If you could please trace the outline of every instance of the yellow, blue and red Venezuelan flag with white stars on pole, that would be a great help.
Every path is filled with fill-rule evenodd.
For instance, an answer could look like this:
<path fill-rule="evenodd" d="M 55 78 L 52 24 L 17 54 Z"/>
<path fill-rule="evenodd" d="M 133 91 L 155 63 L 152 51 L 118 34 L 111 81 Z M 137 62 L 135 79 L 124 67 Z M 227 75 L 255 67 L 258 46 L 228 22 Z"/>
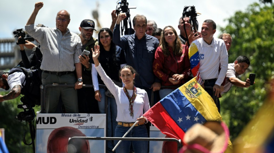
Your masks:
<path fill-rule="evenodd" d="M 187 129 L 195 123 L 222 121 L 213 99 L 196 78 L 157 102 L 143 116 L 162 133 L 181 140 Z"/>

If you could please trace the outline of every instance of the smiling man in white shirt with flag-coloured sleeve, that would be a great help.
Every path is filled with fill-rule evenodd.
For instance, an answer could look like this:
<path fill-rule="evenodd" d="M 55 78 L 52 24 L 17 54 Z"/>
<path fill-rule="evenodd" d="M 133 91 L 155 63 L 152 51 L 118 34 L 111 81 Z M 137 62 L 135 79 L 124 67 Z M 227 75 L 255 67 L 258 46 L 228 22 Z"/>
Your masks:
<path fill-rule="evenodd" d="M 192 74 L 194 77 L 197 76 L 198 83 L 203 88 L 213 87 L 213 90 L 211 88 L 205 90 L 214 99 L 220 112 L 218 95 L 221 93 L 220 86 L 227 72 L 228 53 L 224 40 L 213 38 L 215 32 L 215 22 L 205 20 L 202 24 L 202 38 L 194 40 L 189 47 L 189 60 Z"/>

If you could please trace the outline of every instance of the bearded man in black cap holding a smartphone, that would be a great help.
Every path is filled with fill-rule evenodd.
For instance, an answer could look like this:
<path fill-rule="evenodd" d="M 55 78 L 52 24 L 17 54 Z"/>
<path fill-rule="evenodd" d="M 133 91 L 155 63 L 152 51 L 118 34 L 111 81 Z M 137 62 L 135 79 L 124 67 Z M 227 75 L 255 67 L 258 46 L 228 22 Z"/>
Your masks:
<path fill-rule="evenodd" d="M 82 51 L 87 50 L 91 52 L 91 49 L 94 49 L 95 45 L 98 45 L 97 38 L 93 38 L 93 31 L 95 27 L 95 23 L 93 20 L 83 20 L 80 24 L 80 38 L 82 42 Z M 96 31 L 96 30 L 95 30 Z M 82 63 L 82 78 L 84 84 L 92 85 L 91 78 L 91 54 L 89 56 L 83 55 L 79 56 L 79 61 Z M 78 109 L 79 113 L 99 113 L 98 103 L 95 100 L 94 96 L 95 92 L 93 88 L 81 88 L 77 90 L 78 92 Z"/>

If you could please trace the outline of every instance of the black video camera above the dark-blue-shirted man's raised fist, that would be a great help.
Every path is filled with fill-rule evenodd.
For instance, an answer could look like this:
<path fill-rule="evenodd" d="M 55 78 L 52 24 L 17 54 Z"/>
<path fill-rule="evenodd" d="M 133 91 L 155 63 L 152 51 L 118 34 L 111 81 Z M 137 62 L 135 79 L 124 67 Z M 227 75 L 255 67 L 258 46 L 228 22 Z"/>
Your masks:
<path fill-rule="evenodd" d="M 118 7 L 120 5 L 120 7 Z M 136 9 L 136 6 L 128 6 L 127 0 L 121 0 L 121 2 L 117 3 L 116 6 L 116 14 L 118 15 L 119 13 L 123 12 L 126 14 L 126 18 L 123 20 L 123 26 L 121 25 L 121 35 L 123 35 L 123 31 L 125 30 L 125 35 L 131 33 L 131 21 L 130 21 L 130 9 Z M 130 30 L 127 28 L 127 20 L 129 19 L 130 23 Z"/>

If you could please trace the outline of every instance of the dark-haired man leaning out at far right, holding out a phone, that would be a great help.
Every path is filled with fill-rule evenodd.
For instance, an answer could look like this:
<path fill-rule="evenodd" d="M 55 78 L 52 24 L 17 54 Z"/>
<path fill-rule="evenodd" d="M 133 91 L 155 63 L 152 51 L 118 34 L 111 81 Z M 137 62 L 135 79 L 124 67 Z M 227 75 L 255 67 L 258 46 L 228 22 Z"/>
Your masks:
<path fill-rule="evenodd" d="M 249 65 L 250 61 L 245 56 L 239 56 L 234 61 L 234 63 L 228 64 L 228 70 L 226 72 L 226 83 L 224 85 L 224 91 L 221 94 L 228 92 L 228 90 L 230 90 L 233 85 L 243 88 L 248 88 L 250 86 L 249 78 L 247 78 L 245 82 L 239 79 L 239 75 L 245 73 Z"/>

